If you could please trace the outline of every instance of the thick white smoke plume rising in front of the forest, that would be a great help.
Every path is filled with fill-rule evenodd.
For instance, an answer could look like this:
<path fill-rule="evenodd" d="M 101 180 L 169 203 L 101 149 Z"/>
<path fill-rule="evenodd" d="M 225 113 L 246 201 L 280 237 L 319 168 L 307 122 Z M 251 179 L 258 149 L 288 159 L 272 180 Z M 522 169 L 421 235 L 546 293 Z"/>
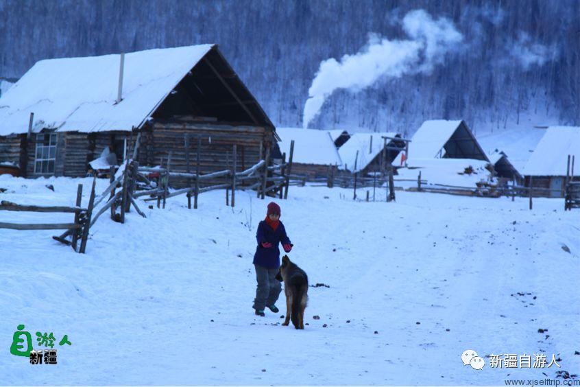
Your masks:
<path fill-rule="evenodd" d="M 445 54 L 457 48 L 463 35 L 446 18 L 434 20 L 424 10 L 413 10 L 402 19 L 408 40 L 389 40 L 371 35 L 357 54 L 323 60 L 304 104 L 302 126 L 319 113 L 326 98 L 337 89 L 361 91 L 379 78 L 428 73 L 442 62 Z"/>

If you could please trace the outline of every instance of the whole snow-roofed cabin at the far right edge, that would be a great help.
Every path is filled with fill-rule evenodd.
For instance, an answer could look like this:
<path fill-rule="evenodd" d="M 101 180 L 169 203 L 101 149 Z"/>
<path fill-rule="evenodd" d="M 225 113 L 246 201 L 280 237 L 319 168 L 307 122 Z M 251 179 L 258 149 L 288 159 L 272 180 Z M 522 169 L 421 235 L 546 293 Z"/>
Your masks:
<path fill-rule="evenodd" d="M 575 156 L 574 174 L 580 174 L 580 127 L 548 127 L 523 169 L 525 186 L 531 181 L 539 188 L 534 196 L 564 196 L 568 154 Z"/>

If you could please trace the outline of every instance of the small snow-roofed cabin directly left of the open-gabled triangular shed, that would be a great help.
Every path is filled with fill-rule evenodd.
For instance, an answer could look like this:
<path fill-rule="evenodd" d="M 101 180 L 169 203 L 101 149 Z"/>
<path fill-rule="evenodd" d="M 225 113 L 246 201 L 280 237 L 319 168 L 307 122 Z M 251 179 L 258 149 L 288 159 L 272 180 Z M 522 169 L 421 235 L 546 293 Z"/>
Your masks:
<path fill-rule="evenodd" d="M 395 132 L 354 133 L 339 148 L 343 169 L 361 175 L 383 172 L 392 163 L 404 142 L 397 141 L 400 134 Z"/>

